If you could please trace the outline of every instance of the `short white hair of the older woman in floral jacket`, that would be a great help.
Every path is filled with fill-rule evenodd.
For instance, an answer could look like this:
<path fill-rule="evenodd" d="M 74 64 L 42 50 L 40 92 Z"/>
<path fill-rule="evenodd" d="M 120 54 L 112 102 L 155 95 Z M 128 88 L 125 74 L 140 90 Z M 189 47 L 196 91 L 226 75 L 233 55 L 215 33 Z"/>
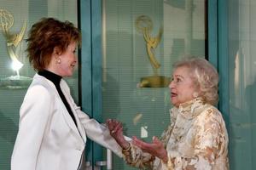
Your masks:
<path fill-rule="evenodd" d="M 177 62 L 174 69 L 185 66 L 189 68 L 190 77 L 199 89 L 199 95 L 208 104 L 218 103 L 218 72 L 207 61 L 200 57 L 187 57 Z"/>

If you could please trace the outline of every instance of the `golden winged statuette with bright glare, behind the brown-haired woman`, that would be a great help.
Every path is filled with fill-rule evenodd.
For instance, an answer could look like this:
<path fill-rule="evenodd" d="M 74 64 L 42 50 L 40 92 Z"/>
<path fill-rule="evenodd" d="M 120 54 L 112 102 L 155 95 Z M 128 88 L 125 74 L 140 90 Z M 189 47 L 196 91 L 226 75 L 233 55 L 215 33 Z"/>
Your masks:
<path fill-rule="evenodd" d="M 11 33 L 9 31 L 13 25 L 13 15 L 5 9 L 0 9 L 0 30 L 3 31 L 3 37 L 6 39 L 7 52 L 12 61 L 12 69 L 15 71 L 15 76 L 0 79 L 0 87 L 27 88 L 28 84 L 32 81 L 32 78 L 20 76 L 20 68 L 22 68 L 23 63 L 19 60 L 20 51 L 17 50 L 26 32 L 26 21 L 24 21 L 19 33 Z"/>

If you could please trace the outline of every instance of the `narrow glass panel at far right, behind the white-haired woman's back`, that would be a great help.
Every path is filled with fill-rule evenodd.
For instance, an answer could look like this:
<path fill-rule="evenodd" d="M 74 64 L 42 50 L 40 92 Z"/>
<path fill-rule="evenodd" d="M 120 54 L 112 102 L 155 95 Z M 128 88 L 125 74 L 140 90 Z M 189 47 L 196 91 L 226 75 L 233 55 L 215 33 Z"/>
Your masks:
<path fill-rule="evenodd" d="M 256 168 L 256 2 L 229 3 L 230 169 Z"/>

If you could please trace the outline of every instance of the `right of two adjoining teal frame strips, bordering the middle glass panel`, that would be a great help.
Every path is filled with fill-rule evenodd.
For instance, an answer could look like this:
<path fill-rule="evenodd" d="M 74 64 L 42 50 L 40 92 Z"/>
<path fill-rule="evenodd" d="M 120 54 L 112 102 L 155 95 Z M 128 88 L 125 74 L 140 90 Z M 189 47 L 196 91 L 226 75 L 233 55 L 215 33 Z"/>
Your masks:
<path fill-rule="evenodd" d="M 102 122 L 102 0 L 91 1 L 92 111 Z M 103 121 L 105 122 L 105 121 Z M 102 161 L 102 147 L 94 143 L 93 162 Z"/>

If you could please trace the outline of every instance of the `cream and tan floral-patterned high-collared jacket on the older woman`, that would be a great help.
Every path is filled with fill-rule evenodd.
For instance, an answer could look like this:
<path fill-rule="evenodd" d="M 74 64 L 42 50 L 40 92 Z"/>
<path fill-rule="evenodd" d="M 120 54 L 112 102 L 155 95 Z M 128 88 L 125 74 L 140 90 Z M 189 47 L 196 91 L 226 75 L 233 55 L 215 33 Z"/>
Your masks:
<path fill-rule="evenodd" d="M 228 133 L 218 109 L 197 98 L 172 108 L 170 114 L 172 123 L 161 136 L 168 163 L 131 143 L 131 150 L 123 151 L 128 164 L 154 170 L 229 169 Z"/>

